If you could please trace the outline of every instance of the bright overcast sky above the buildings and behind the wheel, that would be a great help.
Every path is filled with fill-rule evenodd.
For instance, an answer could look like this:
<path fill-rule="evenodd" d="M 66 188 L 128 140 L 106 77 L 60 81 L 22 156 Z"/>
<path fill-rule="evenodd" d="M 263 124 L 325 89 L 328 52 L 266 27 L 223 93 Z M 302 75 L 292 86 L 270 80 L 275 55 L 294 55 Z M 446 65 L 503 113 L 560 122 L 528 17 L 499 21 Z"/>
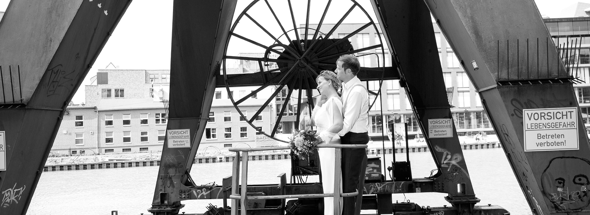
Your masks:
<path fill-rule="evenodd" d="M 8 6 L 9 0 L 0 0 L 0 11 L 6 11 L 6 7 Z M 241 12 L 244 7 L 249 4 L 250 0 L 241 0 L 238 1 L 238 6 L 236 11 Z M 263 2 L 263 1 L 261 1 Z M 273 2 L 283 2 L 283 1 L 270 1 L 271 4 Z M 305 4 L 297 4 L 297 0 L 294 2 L 294 10 L 301 9 L 301 7 L 305 6 Z M 312 1 L 312 5 L 318 4 L 322 5 L 324 1 L 314 0 Z M 370 5 L 367 5 L 368 1 L 359 1 L 360 4 L 365 7 L 366 9 L 371 9 Z M 560 18 L 559 14 L 563 8 L 575 4 L 576 2 L 586 2 L 590 3 L 590 1 L 573 1 L 573 0 L 536 0 L 537 7 L 539 8 L 540 14 L 548 15 L 550 18 Z M 280 5 L 277 3 L 277 8 L 286 5 Z M 348 5 L 341 5 L 341 8 L 337 8 L 337 11 L 346 11 L 348 9 Z M 314 7 L 318 9 L 323 9 L 322 7 Z M 253 8 L 251 10 L 256 10 Z M 371 11 L 368 11 L 371 16 Z M 329 11 L 329 14 L 332 11 Z M 355 14 L 356 13 L 356 14 Z M 268 19 L 264 18 L 264 13 L 250 13 L 252 16 L 257 16 L 260 14 L 260 18 L 255 18 L 261 24 L 265 25 L 265 21 Z M 277 15 L 285 15 L 286 13 L 278 12 Z M 322 14 L 321 11 L 312 11 L 312 16 L 316 15 L 316 19 Z M 363 22 L 362 20 L 366 19 L 362 12 L 355 11 L 353 12 L 353 21 L 345 20 L 345 23 L 359 23 Z M 270 16 L 272 17 L 272 16 Z M 361 18 L 359 18 L 361 17 Z M 288 16 L 284 16 L 283 18 L 289 18 Z M 283 18 L 280 17 L 281 20 Z M 333 20 L 326 20 L 324 23 L 335 23 L 337 19 L 340 18 L 336 12 L 334 14 L 328 15 L 328 19 L 332 18 Z M 298 23 L 302 23 L 301 20 L 304 20 L 304 16 L 296 17 Z M 244 20 L 244 19 L 242 19 Z M 313 20 L 313 17 L 312 17 Z M 249 20 L 248 20 L 249 21 Z M 245 22 L 245 21 L 244 21 Z M 303 22 L 304 23 L 304 22 Z M 317 23 L 310 22 L 310 23 Z M 366 23 L 366 22 L 365 22 Z M 244 23 L 244 26 L 248 26 L 247 23 Z M 247 28 L 253 29 L 253 28 Z M 292 27 L 290 28 L 292 29 Z M 96 71 L 98 69 L 106 68 L 107 65 L 113 63 L 114 65 L 118 66 L 120 69 L 128 69 L 128 70 L 169 70 L 170 69 L 170 44 L 171 44 L 171 30 L 172 30 L 172 0 L 162 1 L 162 0 L 135 0 L 127 9 L 125 15 L 117 25 L 116 30 L 113 32 L 112 37 L 110 37 L 107 44 L 104 46 L 103 51 L 100 53 L 99 57 L 96 59 L 96 62 L 91 68 L 89 74 L 84 79 L 82 87 L 78 89 L 78 92 L 74 96 L 74 103 L 79 104 L 80 102 L 84 102 L 84 85 L 90 84 L 90 78 L 96 75 Z M 253 31 L 242 31 L 244 34 L 255 34 Z M 249 32 L 249 33 L 248 33 Z M 230 52 L 230 50 L 228 50 Z M 240 52 L 240 50 L 234 50 L 233 52 Z"/>

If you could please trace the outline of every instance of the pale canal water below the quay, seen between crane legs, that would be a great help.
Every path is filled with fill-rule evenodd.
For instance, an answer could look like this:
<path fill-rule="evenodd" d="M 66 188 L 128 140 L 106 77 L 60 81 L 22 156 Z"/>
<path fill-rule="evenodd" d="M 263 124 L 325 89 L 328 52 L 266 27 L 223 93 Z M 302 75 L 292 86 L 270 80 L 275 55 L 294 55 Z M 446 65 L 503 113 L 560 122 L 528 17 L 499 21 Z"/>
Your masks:
<path fill-rule="evenodd" d="M 495 204 L 514 215 L 530 215 L 520 187 L 501 148 L 464 150 L 468 171 L 473 181 L 479 204 Z M 405 154 L 396 154 L 405 160 Z M 391 160 L 391 154 L 385 155 Z M 430 152 L 409 153 L 412 177 L 428 177 L 435 168 Z M 389 162 L 389 161 L 388 161 Z M 277 183 L 278 174 L 289 174 L 289 160 L 249 162 L 248 184 Z M 29 215 L 97 214 L 107 215 L 117 210 L 121 215 L 148 213 L 155 189 L 158 166 L 108 168 L 83 171 L 43 172 L 31 201 Z M 221 184 L 231 175 L 231 163 L 194 164 L 191 176 L 198 184 Z M 317 177 L 308 182 L 318 181 Z M 420 206 L 450 206 L 442 193 L 394 194 L 394 201 L 410 200 Z M 221 200 L 186 200 L 181 212 L 204 213 L 209 203 L 222 206 Z M 374 213 L 374 211 L 363 211 Z"/>

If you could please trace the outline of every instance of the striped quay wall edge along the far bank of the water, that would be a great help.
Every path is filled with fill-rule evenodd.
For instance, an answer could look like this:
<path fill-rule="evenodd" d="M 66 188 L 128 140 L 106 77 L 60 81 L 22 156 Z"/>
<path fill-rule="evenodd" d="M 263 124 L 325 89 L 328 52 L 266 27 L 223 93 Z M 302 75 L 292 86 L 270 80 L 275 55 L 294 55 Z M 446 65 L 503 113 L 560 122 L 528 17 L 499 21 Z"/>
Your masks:
<path fill-rule="evenodd" d="M 461 144 L 464 150 L 482 149 L 482 148 L 500 148 L 500 144 L 483 143 L 483 144 Z M 383 148 L 367 148 L 367 154 L 382 154 Z M 428 150 L 427 145 L 415 145 L 409 147 L 409 152 L 416 153 Z M 404 148 L 385 147 L 385 154 L 391 153 L 405 153 Z M 241 157 L 240 157 L 241 158 Z M 289 159 L 289 154 L 254 154 L 248 156 L 248 160 L 284 160 Z M 196 157 L 194 163 L 220 163 L 231 162 L 234 156 L 218 156 L 218 157 Z M 127 168 L 127 167 L 146 167 L 146 166 L 160 166 L 160 160 L 124 160 L 124 161 L 107 161 L 97 163 L 71 163 L 71 164 L 49 164 L 45 165 L 43 171 L 63 171 L 63 170 L 93 170 L 96 168 Z"/>

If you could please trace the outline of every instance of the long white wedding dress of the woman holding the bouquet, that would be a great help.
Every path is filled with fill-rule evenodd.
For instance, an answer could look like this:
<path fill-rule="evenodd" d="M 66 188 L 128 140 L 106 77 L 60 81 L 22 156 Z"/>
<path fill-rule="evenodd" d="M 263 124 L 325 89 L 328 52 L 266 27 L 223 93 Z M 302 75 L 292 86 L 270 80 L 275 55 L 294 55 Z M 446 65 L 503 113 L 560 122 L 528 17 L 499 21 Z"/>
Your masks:
<path fill-rule="evenodd" d="M 328 128 L 330 128 L 330 126 L 332 126 L 332 124 L 334 123 L 334 115 L 336 115 L 337 117 L 341 117 L 340 111 L 334 113 L 334 109 L 342 110 L 342 101 L 340 101 L 336 97 L 330 97 L 322 105 L 322 107 L 319 108 L 319 110 L 313 111 L 313 121 L 316 125 L 317 134 L 322 133 L 322 131 L 326 131 Z M 335 143 L 336 141 L 340 141 L 339 139 L 340 136 L 336 134 L 334 137 L 332 137 L 332 140 L 330 140 L 329 142 Z M 320 144 L 329 143 L 326 143 L 326 141 L 324 141 Z M 320 157 L 320 168 L 322 170 L 322 187 L 324 193 L 334 193 L 334 165 L 335 162 L 340 162 L 339 160 L 335 160 L 335 148 L 318 148 L 317 153 Z M 340 181 L 342 181 L 342 176 L 340 176 Z M 342 193 L 342 184 L 340 184 L 340 192 Z M 340 202 L 342 202 L 342 197 L 340 197 Z M 340 211 L 337 214 L 340 214 L 341 211 L 342 204 L 340 205 Z M 334 199 L 333 197 L 324 197 L 324 215 L 332 214 L 334 214 Z"/>

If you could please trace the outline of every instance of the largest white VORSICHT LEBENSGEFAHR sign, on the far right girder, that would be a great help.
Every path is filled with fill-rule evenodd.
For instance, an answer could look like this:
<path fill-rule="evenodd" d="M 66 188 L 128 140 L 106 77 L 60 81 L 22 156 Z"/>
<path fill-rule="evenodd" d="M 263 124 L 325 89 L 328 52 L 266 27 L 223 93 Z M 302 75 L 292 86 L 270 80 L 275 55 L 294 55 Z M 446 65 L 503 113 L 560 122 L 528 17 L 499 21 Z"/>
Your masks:
<path fill-rule="evenodd" d="M 525 151 L 578 150 L 578 109 L 541 108 L 523 112 Z"/>

